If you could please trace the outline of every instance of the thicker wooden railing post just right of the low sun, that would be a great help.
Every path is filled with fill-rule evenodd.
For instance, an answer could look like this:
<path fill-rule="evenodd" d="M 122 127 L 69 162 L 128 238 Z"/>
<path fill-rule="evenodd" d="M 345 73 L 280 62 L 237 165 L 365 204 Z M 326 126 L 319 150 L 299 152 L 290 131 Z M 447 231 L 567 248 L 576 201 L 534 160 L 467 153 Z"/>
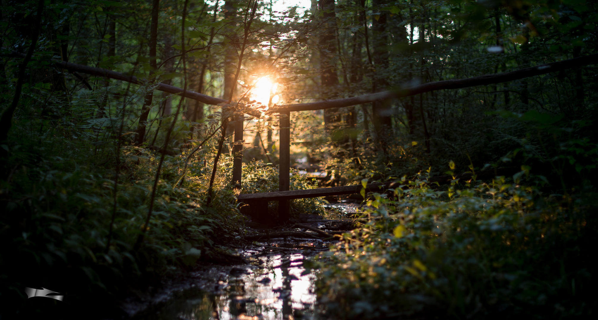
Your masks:
<path fill-rule="evenodd" d="M 279 142 L 279 191 L 288 191 L 291 184 L 289 173 L 291 172 L 291 112 L 279 113 L 280 142 Z M 289 220 L 289 200 L 278 202 L 278 220 L 286 223 Z"/>

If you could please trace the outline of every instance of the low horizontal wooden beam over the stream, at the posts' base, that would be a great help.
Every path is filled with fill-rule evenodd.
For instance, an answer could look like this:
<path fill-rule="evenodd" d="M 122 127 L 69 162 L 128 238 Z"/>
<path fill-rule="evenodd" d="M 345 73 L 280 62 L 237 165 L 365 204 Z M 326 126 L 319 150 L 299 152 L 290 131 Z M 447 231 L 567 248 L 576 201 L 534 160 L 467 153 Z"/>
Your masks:
<path fill-rule="evenodd" d="M 518 168 L 501 168 L 498 170 L 484 170 L 477 173 L 477 179 L 491 179 L 496 176 L 507 176 L 509 174 L 517 173 Z M 464 173 L 457 174 L 454 179 L 469 180 L 473 174 Z M 438 182 L 439 184 L 449 183 L 453 180 L 453 176 L 439 176 L 431 177 L 428 179 L 428 184 Z M 365 186 L 366 192 L 384 192 L 385 190 L 392 189 L 401 186 L 404 181 L 389 181 L 370 183 Z M 320 196 L 339 196 L 339 195 L 352 195 L 361 192 L 363 186 L 361 184 L 357 186 L 342 186 L 342 187 L 327 187 L 327 188 L 316 188 L 306 190 L 290 190 L 290 191 L 273 191 L 273 192 L 260 192 L 260 193 L 243 193 L 237 196 L 239 201 L 243 200 L 260 200 L 260 201 L 279 201 L 279 200 L 291 200 L 291 199 L 303 199 L 303 198 L 318 198 Z"/>

